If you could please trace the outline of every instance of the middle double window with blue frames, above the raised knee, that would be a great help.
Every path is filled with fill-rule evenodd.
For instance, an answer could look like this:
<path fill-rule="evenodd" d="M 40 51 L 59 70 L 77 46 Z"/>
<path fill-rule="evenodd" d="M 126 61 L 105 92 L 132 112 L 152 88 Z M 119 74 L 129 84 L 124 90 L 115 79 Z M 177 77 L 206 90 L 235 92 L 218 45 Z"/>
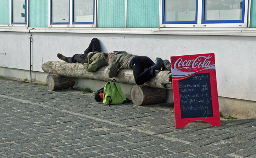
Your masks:
<path fill-rule="evenodd" d="M 95 27 L 95 13 L 95 0 L 50 0 L 50 27 Z"/>

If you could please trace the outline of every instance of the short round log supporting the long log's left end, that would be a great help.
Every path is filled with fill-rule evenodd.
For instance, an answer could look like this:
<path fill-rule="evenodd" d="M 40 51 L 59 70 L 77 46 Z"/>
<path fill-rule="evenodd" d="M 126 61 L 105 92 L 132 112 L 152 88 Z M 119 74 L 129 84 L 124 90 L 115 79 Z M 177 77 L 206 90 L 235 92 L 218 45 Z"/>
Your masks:
<path fill-rule="evenodd" d="M 50 74 L 46 79 L 49 90 L 56 91 L 75 86 L 75 78 L 63 77 L 57 74 Z"/>

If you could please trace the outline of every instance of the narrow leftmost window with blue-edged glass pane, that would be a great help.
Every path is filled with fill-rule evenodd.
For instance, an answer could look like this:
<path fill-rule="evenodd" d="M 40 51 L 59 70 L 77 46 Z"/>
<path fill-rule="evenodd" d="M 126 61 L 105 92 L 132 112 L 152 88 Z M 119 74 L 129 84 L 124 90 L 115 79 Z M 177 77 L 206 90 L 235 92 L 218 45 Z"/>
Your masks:
<path fill-rule="evenodd" d="M 27 24 L 27 0 L 11 0 L 11 24 Z"/>

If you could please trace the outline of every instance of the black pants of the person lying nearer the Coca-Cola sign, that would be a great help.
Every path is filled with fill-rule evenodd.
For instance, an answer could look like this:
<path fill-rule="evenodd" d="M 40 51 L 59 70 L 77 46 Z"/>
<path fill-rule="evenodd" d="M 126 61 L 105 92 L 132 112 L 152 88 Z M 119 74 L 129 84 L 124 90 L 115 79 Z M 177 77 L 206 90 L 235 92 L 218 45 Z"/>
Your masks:
<path fill-rule="evenodd" d="M 136 56 L 132 58 L 131 64 L 136 84 L 142 85 L 152 78 L 149 67 L 153 66 L 155 63 L 150 58 L 147 56 Z"/>

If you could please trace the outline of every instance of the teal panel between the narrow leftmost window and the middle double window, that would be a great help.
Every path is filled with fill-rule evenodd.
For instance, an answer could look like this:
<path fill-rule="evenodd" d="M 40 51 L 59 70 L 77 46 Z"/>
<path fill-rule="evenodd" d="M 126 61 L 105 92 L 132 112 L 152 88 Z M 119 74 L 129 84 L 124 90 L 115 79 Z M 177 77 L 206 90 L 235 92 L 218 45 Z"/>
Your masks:
<path fill-rule="evenodd" d="M 29 1 L 29 27 L 48 27 L 48 0 Z"/>

